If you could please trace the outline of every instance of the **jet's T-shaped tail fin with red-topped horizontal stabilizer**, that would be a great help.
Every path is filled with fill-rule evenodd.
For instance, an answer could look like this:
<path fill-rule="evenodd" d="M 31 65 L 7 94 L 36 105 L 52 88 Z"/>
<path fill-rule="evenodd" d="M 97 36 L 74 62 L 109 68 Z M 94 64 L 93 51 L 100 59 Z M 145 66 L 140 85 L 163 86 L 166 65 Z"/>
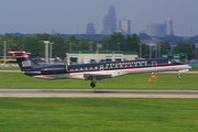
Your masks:
<path fill-rule="evenodd" d="M 37 64 L 36 62 L 34 62 L 34 61 L 26 54 L 26 52 L 13 51 L 13 52 L 8 52 L 8 53 L 12 54 L 12 55 L 15 57 L 15 59 L 16 59 L 16 62 L 18 62 L 18 64 L 19 64 L 19 66 L 20 66 L 20 68 L 21 68 L 22 72 L 28 72 L 28 70 L 30 70 L 30 69 L 34 69 L 34 68 L 41 67 L 40 64 Z"/>

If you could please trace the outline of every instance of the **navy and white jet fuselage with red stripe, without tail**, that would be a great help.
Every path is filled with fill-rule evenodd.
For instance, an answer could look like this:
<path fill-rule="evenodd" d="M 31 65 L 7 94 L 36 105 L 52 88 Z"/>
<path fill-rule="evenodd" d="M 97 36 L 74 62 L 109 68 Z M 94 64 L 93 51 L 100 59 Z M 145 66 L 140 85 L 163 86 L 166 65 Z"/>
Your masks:
<path fill-rule="evenodd" d="M 79 65 L 48 65 L 24 72 L 24 74 L 43 79 L 85 79 L 85 74 L 119 77 L 128 74 L 172 72 L 188 68 L 190 68 L 188 65 L 173 62 L 169 58 L 156 58 Z"/>

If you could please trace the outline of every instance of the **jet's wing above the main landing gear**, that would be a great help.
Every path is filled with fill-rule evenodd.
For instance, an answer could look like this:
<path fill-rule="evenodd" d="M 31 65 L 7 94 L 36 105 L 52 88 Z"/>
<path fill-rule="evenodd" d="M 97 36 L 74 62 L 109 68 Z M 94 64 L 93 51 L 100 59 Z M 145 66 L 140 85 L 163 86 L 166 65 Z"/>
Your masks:
<path fill-rule="evenodd" d="M 102 75 L 102 74 L 84 74 L 85 80 L 100 80 L 106 78 L 111 78 L 112 75 Z"/>

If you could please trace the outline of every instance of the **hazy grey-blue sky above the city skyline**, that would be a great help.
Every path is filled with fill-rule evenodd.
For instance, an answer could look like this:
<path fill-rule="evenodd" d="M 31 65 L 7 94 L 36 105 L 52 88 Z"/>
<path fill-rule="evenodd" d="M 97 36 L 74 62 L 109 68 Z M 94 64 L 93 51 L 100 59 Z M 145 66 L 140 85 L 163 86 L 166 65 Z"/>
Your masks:
<path fill-rule="evenodd" d="M 198 34 L 198 0 L 0 0 L 0 34 L 84 34 L 88 23 L 101 33 L 102 20 L 113 4 L 119 20 L 131 20 L 131 32 L 146 24 L 173 20 L 175 35 Z"/>

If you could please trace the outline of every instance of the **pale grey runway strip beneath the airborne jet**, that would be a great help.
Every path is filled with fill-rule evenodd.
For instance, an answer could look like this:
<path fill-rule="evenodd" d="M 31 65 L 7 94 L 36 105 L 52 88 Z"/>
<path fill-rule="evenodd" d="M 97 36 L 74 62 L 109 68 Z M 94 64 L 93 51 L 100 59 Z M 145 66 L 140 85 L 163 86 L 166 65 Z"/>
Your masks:
<path fill-rule="evenodd" d="M 14 98 L 198 98 L 197 90 L 0 89 Z"/>

